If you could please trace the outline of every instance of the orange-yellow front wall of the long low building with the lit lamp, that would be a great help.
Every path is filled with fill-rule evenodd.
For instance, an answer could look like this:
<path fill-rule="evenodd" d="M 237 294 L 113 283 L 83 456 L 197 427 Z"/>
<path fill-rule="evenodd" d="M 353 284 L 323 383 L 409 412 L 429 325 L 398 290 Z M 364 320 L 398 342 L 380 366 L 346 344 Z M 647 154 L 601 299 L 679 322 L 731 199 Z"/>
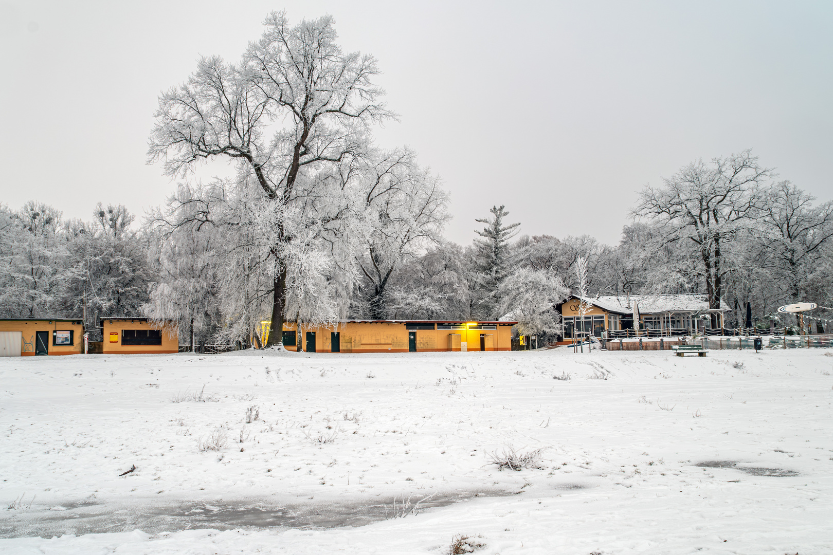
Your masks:
<path fill-rule="evenodd" d="M 297 331 L 296 325 L 285 324 L 284 330 Z M 342 353 L 407 353 L 408 333 L 416 333 L 416 352 L 459 351 L 466 341 L 470 351 L 480 350 L 480 334 L 486 335 L 486 350 L 511 350 L 511 325 L 498 325 L 497 330 L 407 330 L 405 324 L 388 322 L 342 322 L 335 328 L 306 328 L 296 335 L 307 349 L 307 331 L 316 332 L 316 352 L 332 352 L 332 332 L 340 334 Z M 451 336 L 451 337 L 450 337 Z M 455 339 L 456 336 L 456 339 Z M 105 336 L 106 338 L 106 336 Z M 297 350 L 296 346 L 287 346 Z"/>

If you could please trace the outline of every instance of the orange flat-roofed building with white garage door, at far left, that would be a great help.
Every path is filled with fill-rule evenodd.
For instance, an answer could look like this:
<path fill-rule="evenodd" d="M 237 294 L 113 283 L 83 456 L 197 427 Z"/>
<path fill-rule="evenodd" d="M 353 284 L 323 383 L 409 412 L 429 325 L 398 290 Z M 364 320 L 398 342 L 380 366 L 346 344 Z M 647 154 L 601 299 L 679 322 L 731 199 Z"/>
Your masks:
<path fill-rule="evenodd" d="M 80 354 L 84 352 L 81 320 L 0 320 L 0 356 Z"/>

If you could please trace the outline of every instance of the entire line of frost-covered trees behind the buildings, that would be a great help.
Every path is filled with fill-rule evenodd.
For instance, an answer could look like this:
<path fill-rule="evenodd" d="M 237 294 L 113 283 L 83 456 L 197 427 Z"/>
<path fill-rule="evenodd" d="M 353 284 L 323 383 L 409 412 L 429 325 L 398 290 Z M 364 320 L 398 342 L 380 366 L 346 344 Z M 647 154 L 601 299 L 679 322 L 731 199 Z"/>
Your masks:
<path fill-rule="evenodd" d="M 135 222 L 99 204 L 92 221 L 51 206 L 0 206 L 0 315 L 174 320 L 181 340 L 281 341 L 284 321 L 497 320 L 557 330 L 582 296 L 704 293 L 741 323 L 797 300 L 831 305 L 833 203 L 777 181 L 751 151 L 695 161 L 646 186 L 619 245 L 519 235 L 494 206 L 471 245 L 442 236 L 441 180 L 374 126 L 397 115 L 373 57 L 343 52 L 332 17 L 272 13 L 236 62 L 203 57 L 155 113 L 149 163 L 181 180 Z M 235 176 L 198 179 L 226 159 Z M 135 224 L 135 225 L 134 225 Z M 716 327 L 716 325 L 713 325 Z"/>

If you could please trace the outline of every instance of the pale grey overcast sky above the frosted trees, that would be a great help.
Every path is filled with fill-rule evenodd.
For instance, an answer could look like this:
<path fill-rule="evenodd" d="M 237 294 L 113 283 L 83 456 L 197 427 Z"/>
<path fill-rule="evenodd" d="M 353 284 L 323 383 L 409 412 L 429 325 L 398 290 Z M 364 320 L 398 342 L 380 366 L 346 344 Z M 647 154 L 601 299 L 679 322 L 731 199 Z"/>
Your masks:
<path fill-rule="evenodd" d="M 332 14 L 345 51 L 378 58 L 401 121 L 377 142 L 443 178 L 451 240 L 505 204 L 522 233 L 615 244 L 642 186 L 750 147 L 833 197 L 833 2 L 0 0 L 0 202 L 162 205 L 157 95 L 283 9 Z"/>

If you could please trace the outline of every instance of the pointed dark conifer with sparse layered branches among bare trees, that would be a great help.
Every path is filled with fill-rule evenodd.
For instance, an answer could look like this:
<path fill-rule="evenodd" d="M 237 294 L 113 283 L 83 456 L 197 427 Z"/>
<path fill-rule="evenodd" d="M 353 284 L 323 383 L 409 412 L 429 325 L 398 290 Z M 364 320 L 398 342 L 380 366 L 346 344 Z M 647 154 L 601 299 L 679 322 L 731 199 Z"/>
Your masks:
<path fill-rule="evenodd" d="M 517 235 L 520 223 L 504 225 L 503 219 L 509 216 L 506 206 L 492 206 L 491 217 L 476 221 L 486 224 L 483 230 L 475 230 L 481 239 L 474 241 L 476 248 L 476 268 L 479 273 L 481 295 L 476 305 L 476 315 L 486 320 L 497 320 L 500 315 L 499 288 L 511 266 L 522 257 L 512 249 L 510 240 Z"/>

